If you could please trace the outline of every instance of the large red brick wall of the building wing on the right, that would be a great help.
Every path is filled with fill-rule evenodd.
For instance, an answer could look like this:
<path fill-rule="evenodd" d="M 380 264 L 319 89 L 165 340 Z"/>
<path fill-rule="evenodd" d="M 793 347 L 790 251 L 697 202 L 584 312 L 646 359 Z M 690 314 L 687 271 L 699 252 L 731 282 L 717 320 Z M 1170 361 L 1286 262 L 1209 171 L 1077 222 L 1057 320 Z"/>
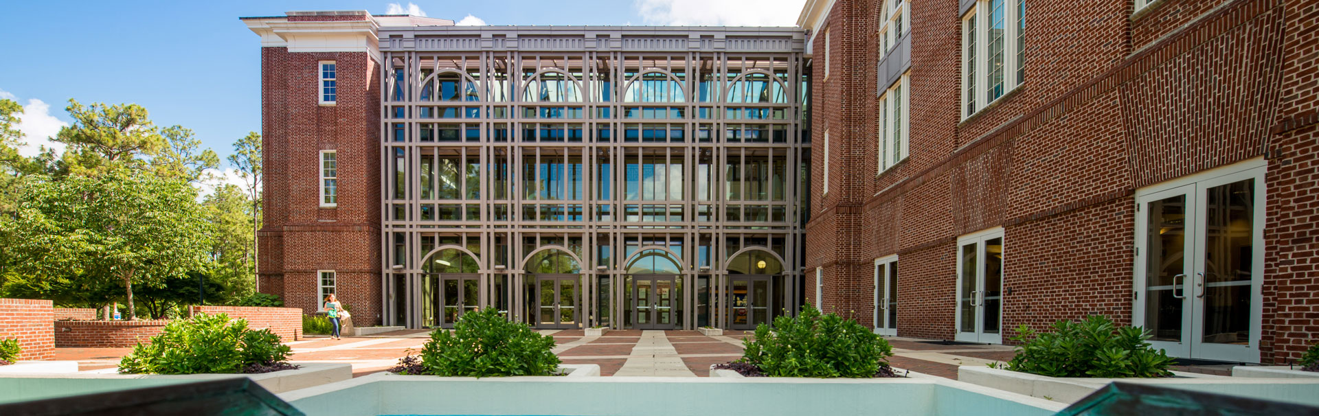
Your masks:
<path fill-rule="evenodd" d="M 872 324 L 873 259 L 898 254 L 898 334 L 952 338 L 956 238 L 1001 226 L 1005 329 L 1093 313 L 1130 324 L 1136 190 L 1264 157 L 1261 361 L 1319 340 L 1319 216 L 1303 208 L 1319 199 L 1314 1 L 1163 0 L 1134 16 L 1129 1 L 1029 1 L 1025 83 L 966 120 L 958 4 L 909 12 L 910 153 L 884 172 L 880 1 L 836 1 L 815 29 L 809 300 L 823 266 L 826 309 Z"/>

